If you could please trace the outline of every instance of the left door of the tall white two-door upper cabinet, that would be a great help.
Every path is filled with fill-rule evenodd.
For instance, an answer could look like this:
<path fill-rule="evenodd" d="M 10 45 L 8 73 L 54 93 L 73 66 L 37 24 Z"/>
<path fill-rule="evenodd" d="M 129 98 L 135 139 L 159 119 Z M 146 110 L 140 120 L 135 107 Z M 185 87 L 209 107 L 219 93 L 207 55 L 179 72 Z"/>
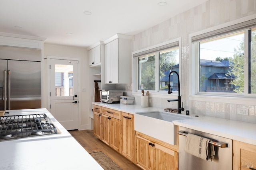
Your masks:
<path fill-rule="evenodd" d="M 112 81 L 112 43 L 105 45 L 105 83 Z"/>

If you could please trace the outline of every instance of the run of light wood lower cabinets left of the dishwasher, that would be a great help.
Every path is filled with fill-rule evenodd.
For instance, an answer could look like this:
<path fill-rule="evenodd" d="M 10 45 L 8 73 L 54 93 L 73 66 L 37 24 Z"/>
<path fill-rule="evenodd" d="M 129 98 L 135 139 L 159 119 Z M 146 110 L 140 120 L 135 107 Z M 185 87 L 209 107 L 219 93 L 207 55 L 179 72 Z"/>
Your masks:
<path fill-rule="evenodd" d="M 134 115 L 94 108 L 94 135 L 144 170 L 178 170 L 178 146 L 134 131 Z"/>

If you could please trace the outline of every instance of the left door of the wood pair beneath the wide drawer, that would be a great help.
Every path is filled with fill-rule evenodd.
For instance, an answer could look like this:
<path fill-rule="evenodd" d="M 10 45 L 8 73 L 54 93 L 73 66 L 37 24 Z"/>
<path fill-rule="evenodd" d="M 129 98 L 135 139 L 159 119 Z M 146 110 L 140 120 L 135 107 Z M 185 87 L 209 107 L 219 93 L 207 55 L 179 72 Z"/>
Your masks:
<path fill-rule="evenodd" d="M 109 125 L 110 125 L 110 119 L 107 115 L 102 114 L 101 116 L 101 131 L 102 136 L 101 139 L 104 143 L 109 145 Z"/>

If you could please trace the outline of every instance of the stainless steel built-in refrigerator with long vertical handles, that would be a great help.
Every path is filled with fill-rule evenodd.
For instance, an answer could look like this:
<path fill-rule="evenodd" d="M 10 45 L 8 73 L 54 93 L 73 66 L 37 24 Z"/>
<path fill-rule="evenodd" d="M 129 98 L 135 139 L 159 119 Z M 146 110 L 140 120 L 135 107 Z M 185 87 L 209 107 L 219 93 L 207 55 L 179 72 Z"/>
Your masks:
<path fill-rule="evenodd" d="M 27 60 L 40 53 L 0 47 L 0 110 L 41 108 L 41 62 Z"/>

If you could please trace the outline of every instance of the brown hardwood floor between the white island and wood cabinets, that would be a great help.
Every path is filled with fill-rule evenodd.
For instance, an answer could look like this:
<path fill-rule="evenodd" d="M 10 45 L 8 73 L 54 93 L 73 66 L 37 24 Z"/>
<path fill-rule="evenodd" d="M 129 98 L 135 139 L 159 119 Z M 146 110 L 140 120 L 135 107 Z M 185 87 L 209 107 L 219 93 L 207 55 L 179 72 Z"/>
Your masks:
<path fill-rule="evenodd" d="M 102 151 L 123 170 L 141 170 L 130 160 L 126 159 L 120 153 L 111 149 L 97 137 L 94 137 L 93 130 L 69 131 L 69 133 L 76 139 L 76 141 L 78 141 L 78 143 L 80 143 L 80 145 L 82 145 L 82 147 L 88 153 Z"/>

